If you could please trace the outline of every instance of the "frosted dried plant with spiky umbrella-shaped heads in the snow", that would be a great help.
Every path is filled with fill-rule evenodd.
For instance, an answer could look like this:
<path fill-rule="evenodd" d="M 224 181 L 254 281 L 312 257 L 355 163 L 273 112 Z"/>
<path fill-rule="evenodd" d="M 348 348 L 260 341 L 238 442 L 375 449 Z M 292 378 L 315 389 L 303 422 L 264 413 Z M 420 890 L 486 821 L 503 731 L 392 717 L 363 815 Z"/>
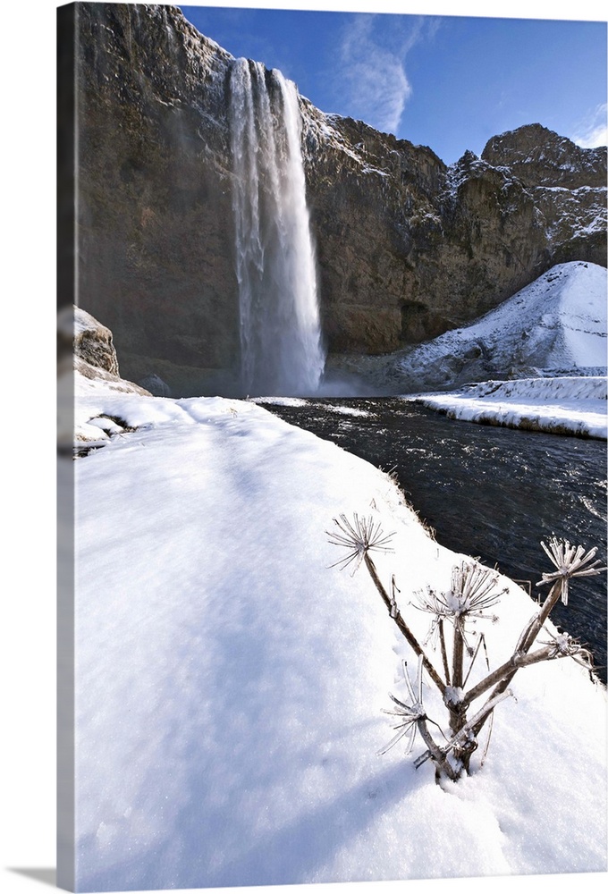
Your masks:
<path fill-rule="evenodd" d="M 426 745 L 426 751 L 416 759 L 415 766 L 421 766 L 427 760 L 431 760 L 435 764 L 437 780 L 443 778 L 458 780 L 464 773 L 469 772 L 470 758 L 477 749 L 479 733 L 486 721 L 491 721 L 495 706 L 512 695 L 511 680 L 520 668 L 538 662 L 572 658 L 592 671 L 592 655 L 567 633 L 555 636 L 547 631 L 549 638 L 545 642 L 539 642 L 539 647 L 534 651 L 532 646 L 544 628 L 553 606 L 560 599 L 564 604 L 568 603 L 570 579 L 596 575 L 606 570 L 600 565 L 599 560 L 595 560 L 596 549 L 585 552 L 582 546 L 572 546 L 568 540 L 559 540 L 554 535 L 548 544 L 541 542 L 555 567 L 554 571 L 543 572 L 542 580 L 539 582 L 539 585 L 551 585 L 545 602 L 521 631 L 508 661 L 494 671 L 490 671 L 488 662 L 486 676 L 467 689 L 469 675 L 477 661 L 480 647 L 484 645 L 486 648 L 483 634 L 478 635 L 475 648 L 470 645 L 468 637 L 471 636 L 471 631 L 468 625 L 482 619 L 497 620 L 494 614 L 488 612 L 500 601 L 501 596 L 508 592 L 507 587 L 500 588 L 498 572 L 487 569 L 474 560 L 461 561 L 452 568 L 451 586 L 448 590 L 438 592 L 432 587 L 427 587 L 424 593 L 416 594 L 415 607 L 431 615 L 428 635 L 420 644 L 397 606 L 396 593 L 399 590 L 394 576 L 389 591 L 380 580 L 376 565 L 370 556 L 370 552 L 374 551 L 393 552 L 388 545 L 393 534 L 384 535 L 382 527 L 372 517 L 360 519 L 355 515 L 354 521 L 350 523 L 342 515 L 340 519 L 334 519 L 334 523 L 339 533 L 326 532 L 330 543 L 345 547 L 347 552 L 331 567 L 339 565 L 343 569 L 356 561 L 354 570 L 357 570 L 362 562 L 365 564 L 391 618 L 418 656 L 418 675 L 415 684 L 410 680 L 407 663 L 404 662 L 403 666 L 408 701 L 389 694 L 394 707 L 385 713 L 397 718 L 397 722 L 393 725 L 393 729 L 397 732 L 379 754 L 386 754 L 407 736 L 406 754 L 409 755 L 419 733 Z M 452 627 L 450 648 L 446 637 L 446 624 Z M 433 652 L 439 650 L 443 675 L 436 670 L 430 655 L 426 654 L 426 647 L 429 644 Z M 469 659 L 469 669 L 465 673 L 466 659 Z M 439 723 L 432 721 L 426 715 L 422 700 L 423 672 L 430 677 L 443 698 L 449 719 L 447 734 L 443 732 Z M 485 697 L 485 701 L 474 707 L 474 703 L 482 696 Z M 470 716 L 469 709 L 473 709 Z M 431 734 L 429 723 L 440 731 L 442 744 L 438 744 Z"/>

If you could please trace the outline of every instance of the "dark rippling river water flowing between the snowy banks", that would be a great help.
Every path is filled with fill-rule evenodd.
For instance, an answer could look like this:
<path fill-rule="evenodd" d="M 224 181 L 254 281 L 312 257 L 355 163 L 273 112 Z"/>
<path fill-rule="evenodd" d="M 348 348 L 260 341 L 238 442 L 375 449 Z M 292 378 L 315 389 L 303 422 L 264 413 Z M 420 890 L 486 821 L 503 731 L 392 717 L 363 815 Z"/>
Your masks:
<path fill-rule="evenodd" d="M 510 578 L 553 570 L 540 541 L 553 533 L 606 558 L 606 443 L 448 419 L 397 398 L 265 404 L 292 425 L 394 469 L 438 543 L 478 556 Z M 335 407 L 365 410 L 344 415 Z M 548 587 L 540 592 L 545 595 Z M 552 619 L 590 646 L 606 682 L 606 578 L 577 578 Z"/>

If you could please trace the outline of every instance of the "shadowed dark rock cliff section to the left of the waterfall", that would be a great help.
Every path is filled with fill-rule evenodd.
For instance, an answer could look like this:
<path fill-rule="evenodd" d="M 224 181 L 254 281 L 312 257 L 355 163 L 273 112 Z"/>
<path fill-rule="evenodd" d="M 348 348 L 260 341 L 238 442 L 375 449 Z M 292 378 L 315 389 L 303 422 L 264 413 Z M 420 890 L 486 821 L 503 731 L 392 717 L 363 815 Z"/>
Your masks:
<path fill-rule="evenodd" d="M 76 9 L 80 305 L 113 330 L 129 377 L 142 357 L 230 368 L 230 56 L 172 7 Z"/>

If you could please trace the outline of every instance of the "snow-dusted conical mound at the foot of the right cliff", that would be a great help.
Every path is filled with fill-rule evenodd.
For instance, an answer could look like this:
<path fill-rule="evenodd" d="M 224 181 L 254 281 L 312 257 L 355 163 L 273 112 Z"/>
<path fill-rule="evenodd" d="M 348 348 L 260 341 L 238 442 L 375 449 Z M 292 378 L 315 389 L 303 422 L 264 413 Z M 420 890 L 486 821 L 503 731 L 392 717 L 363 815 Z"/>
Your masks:
<path fill-rule="evenodd" d="M 606 367 L 606 270 L 554 266 L 476 323 L 393 358 L 402 391 Z"/>

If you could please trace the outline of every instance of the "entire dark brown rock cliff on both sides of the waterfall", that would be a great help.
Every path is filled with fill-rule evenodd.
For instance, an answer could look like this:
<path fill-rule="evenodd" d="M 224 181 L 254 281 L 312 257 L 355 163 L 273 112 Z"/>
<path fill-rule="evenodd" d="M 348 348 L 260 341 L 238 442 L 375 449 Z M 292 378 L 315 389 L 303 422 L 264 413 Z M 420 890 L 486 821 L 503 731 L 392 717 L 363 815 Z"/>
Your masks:
<path fill-rule="evenodd" d="M 80 306 L 113 330 L 128 377 L 200 392 L 221 370 L 225 383 L 239 355 L 232 56 L 174 7 L 75 6 Z M 395 350 L 555 263 L 605 266 L 605 149 L 530 125 L 447 167 L 300 105 L 329 350 Z"/>

